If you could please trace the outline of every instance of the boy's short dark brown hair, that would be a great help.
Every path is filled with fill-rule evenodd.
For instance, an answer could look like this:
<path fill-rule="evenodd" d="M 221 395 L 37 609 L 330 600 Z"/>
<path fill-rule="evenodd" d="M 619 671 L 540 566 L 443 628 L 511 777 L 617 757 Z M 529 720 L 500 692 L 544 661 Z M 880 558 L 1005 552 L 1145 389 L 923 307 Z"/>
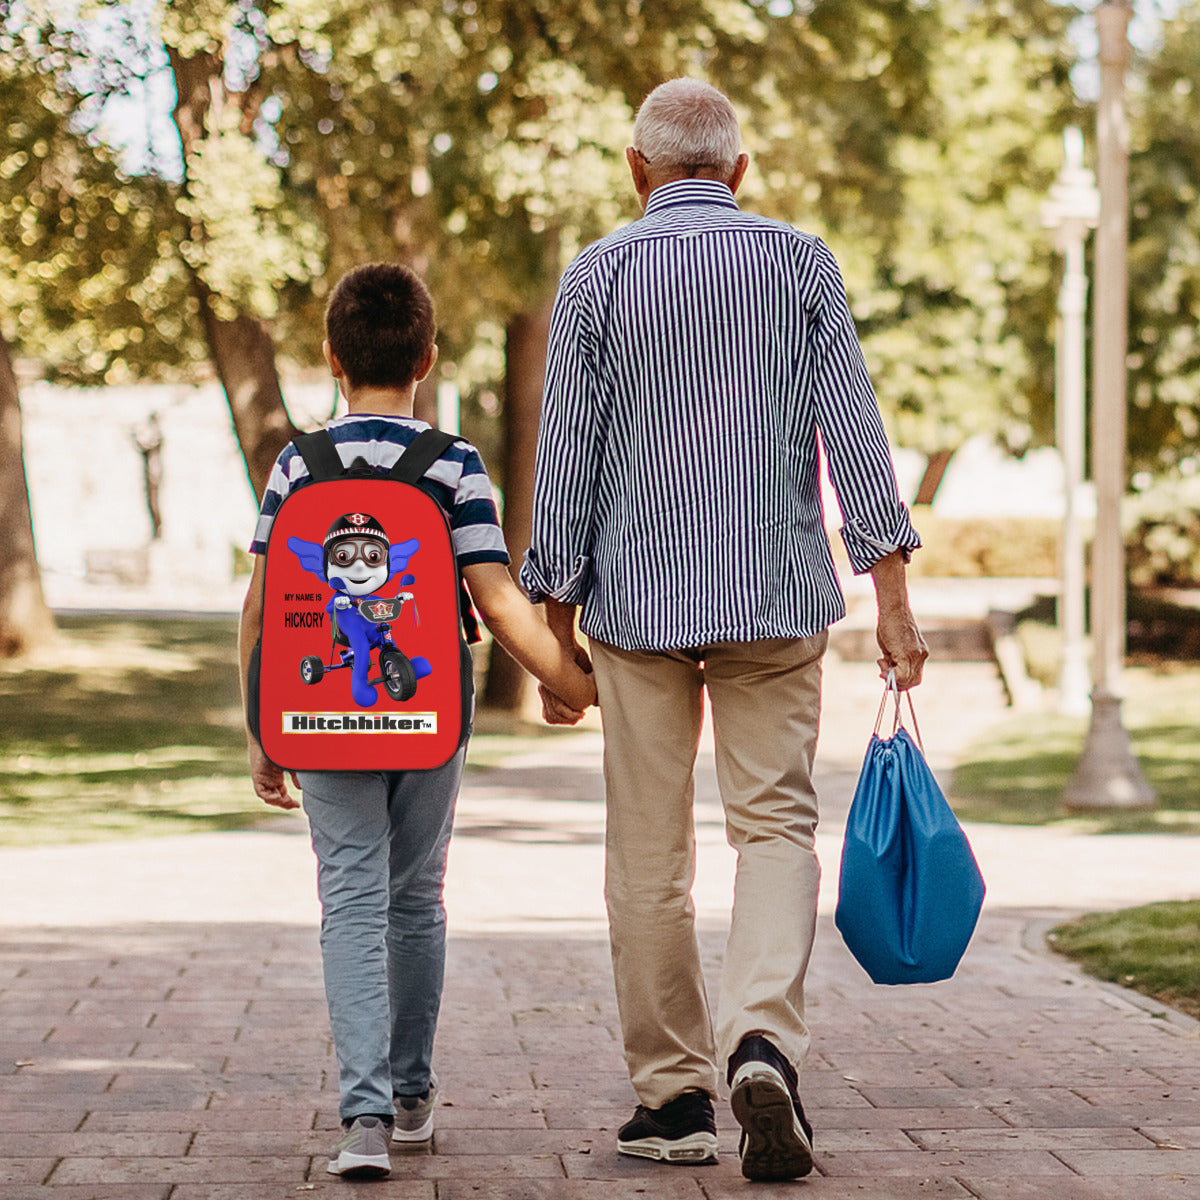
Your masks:
<path fill-rule="evenodd" d="M 433 298 L 400 263 L 347 272 L 325 308 L 325 337 L 354 388 L 404 388 L 433 344 Z"/>

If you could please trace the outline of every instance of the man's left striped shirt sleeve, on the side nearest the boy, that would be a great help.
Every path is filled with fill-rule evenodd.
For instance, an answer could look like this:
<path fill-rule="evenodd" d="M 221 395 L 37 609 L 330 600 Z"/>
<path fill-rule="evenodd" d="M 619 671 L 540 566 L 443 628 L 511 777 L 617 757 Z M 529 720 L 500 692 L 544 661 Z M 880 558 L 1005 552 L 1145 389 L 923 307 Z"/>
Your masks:
<path fill-rule="evenodd" d="M 580 605 L 590 582 L 596 479 L 595 359 L 587 322 L 559 286 L 550 326 L 534 474 L 533 529 L 521 584 L 534 604 Z"/>

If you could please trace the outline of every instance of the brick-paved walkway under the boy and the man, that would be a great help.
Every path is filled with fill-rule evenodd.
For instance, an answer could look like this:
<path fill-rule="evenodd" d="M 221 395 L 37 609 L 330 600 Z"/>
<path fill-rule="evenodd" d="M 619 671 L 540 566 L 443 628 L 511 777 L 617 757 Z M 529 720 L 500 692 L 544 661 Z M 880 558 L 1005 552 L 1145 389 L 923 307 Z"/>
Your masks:
<path fill-rule="evenodd" d="M 820 755 L 827 889 L 803 1092 L 817 1172 L 751 1186 L 721 1163 L 622 1159 L 634 1104 L 601 887 L 599 736 L 470 773 L 430 1152 L 392 1177 L 325 1175 L 336 1068 L 300 818 L 264 832 L 0 851 L 0 1200 L 1195 1200 L 1200 1026 L 1050 956 L 1072 912 L 1200 890 L 1194 839 L 971 827 L 989 900 L 958 976 L 872 986 L 833 928 L 840 824 L 872 668 L 830 662 Z M 918 714 L 935 767 L 1000 714 L 991 668 L 935 665 Z M 710 763 L 697 911 L 719 986 L 732 860 Z"/>

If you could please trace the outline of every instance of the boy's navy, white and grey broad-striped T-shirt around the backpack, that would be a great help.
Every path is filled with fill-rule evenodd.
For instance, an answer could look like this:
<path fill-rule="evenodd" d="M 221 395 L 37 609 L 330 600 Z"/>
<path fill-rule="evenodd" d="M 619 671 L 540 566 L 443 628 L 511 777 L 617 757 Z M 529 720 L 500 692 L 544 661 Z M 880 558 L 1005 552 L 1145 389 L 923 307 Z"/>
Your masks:
<path fill-rule="evenodd" d="M 361 457 L 368 467 L 388 472 L 428 425 L 414 418 L 352 413 L 330 421 L 325 428 L 344 466 L 349 467 Z M 304 458 L 289 443 L 275 460 L 266 481 L 254 540 L 250 546 L 252 554 L 265 553 L 266 539 L 283 498 L 307 478 L 308 468 Z M 492 485 L 479 451 L 469 443 L 456 442 L 426 472 L 425 480 L 449 517 L 458 565 L 508 563 L 509 553 L 496 516 Z"/>

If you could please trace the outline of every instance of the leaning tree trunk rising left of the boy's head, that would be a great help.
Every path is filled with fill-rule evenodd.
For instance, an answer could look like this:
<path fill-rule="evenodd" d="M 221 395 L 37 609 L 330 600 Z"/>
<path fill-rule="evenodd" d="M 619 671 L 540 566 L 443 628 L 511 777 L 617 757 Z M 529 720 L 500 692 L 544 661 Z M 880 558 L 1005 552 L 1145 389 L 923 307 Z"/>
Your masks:
<path fill-rule="evenodd" d="M 186 187 L 187 160 L 206 136 L 209 114 L 230 97 L 222 80 L 222 55 L 202 52 L 185 58 L 173 47 L 168 54 L 178 97 L 172 115 L 184 151 Z M 203 238 L 203 229 L 196 234 Z M 204 281 L 197 277 L 193 283 L 209 356 L 229 403 L 251 486 L 262 499 L 276 455 L 300 432 L 283 403 L 275 343 L 265 323 L 252 313 L 222 320 L 212 311 L 212 294 Z"/>

